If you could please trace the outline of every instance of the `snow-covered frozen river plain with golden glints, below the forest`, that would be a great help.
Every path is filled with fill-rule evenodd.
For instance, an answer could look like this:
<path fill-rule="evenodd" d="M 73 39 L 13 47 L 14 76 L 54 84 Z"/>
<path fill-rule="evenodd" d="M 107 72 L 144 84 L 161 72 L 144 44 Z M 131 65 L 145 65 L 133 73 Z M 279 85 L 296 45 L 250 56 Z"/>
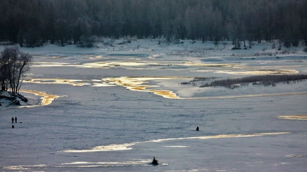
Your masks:
<path fill-rule="evenodd" d="M 20 90 L 30 105 L 0 100 L 0 171 L 306 172 L 307 81 L 236 89 L 180 84 L 306 74 L 302 47 L 120 42 L 20 48 L 34 57 Z"/>

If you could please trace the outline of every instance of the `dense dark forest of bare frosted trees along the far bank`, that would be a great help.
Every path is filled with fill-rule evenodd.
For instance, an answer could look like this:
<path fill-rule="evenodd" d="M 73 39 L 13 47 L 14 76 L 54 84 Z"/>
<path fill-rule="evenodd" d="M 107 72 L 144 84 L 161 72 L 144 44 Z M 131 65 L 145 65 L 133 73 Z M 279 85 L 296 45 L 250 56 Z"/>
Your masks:
<path fill-rule="evenodd" d="M 0 16 L 0 41 L 27 47 L 93 36 L 307 45 L 307 0 L 1 0 Z"/>

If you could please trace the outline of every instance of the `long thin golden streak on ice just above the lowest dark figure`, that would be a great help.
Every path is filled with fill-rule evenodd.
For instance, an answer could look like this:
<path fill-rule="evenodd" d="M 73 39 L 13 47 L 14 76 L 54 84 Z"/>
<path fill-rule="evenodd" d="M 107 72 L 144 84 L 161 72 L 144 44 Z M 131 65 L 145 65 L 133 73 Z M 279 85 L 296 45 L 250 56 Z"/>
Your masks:
<path fill-rule="evenodd" d="M 85 150 L 64 150 L 61 152 L 97 152 L 97 151 L 120 151 L 120 150 L 131 150 L 131 146 L 141 143 L 150 142 L 162 142 L 169 140 L 186 140 L 186 139 L 216 139 L 216 138 L 234 138 L 234 137 L 254 137 L 254 136 L 265 136 L 265 135 L 279 135 L 279 134 L 290 134 L 291 132 L 273 132 L 273 133 L 253 133 L 253 134 L 220 134 L 213 136 L 199 136 L 199 137 L 183 137 L 183 138 L 166 138 L 166 139 L 156 139 L 143 142 L 133 142 L 124 144 L 113 144 L 108 146 L 96 146 L 91 149 Z"/>

